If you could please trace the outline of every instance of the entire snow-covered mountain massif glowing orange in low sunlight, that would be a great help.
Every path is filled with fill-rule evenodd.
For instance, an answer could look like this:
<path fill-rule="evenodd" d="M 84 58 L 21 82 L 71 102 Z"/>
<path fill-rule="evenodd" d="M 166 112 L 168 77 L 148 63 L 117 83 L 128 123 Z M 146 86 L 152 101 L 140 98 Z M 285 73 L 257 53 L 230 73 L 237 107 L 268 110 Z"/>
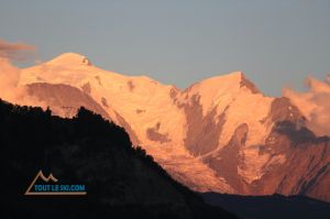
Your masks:
<path fill-rule="evenodd" d="M 330 200 L 329 139 L 308 130 L 289 99 L 264 96 L 241 72 L 179 90 L 67 53 L 22 69 L 20 84 L 59 116 L 85 106 L 113 120 L 195 190 Z"/>

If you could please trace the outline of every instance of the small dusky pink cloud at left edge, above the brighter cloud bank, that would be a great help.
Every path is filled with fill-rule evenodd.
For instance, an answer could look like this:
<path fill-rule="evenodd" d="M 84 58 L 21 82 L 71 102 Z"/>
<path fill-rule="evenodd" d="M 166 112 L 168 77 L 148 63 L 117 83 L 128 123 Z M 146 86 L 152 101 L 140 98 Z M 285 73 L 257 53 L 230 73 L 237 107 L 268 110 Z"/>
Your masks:
<path fill-rule="evenodd" d="M 0 57 L 9 61 L 22 62 L 30 58 L 35 52 L 33 45 L 25 43 L 9 43 L 0 39 Z"/>

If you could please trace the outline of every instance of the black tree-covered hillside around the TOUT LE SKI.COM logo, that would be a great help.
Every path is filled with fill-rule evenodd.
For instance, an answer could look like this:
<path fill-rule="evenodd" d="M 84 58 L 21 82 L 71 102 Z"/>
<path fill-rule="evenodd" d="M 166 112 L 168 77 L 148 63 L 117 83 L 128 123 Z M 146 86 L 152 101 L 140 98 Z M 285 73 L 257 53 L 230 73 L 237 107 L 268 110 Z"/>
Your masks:
<path fill-rule="evenodd" d="M 0 100 L 1 218 L 235 218 L 173 180 L 127 132 L 84 108 L 73 119 Z M 24 196 L 38 171 L 86 196 Z"/>

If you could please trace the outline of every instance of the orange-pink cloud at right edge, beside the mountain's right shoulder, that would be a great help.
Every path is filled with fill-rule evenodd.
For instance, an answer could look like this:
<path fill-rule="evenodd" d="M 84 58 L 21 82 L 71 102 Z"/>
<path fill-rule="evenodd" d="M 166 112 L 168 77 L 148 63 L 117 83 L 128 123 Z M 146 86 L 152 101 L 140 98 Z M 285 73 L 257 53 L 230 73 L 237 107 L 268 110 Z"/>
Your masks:
<path fill-rule="evenodd" d="M 307 118 L 307 127 L 317 135 L 330 136 L 330 76 L 321 81 L 312 77 L 305 80 L 309 88 L 306 92 L 298 92 L 284 88 L 283 96 L 292 100 Z"/>

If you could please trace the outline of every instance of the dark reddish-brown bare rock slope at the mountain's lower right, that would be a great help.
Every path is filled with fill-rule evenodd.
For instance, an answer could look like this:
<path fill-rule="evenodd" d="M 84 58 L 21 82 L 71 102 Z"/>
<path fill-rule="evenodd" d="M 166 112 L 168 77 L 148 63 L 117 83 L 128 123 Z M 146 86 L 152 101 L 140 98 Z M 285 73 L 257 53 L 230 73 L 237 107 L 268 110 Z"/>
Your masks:
<path fill-rule="evenodd" d="M 265 167 L 265 175 L 253 182 L 251 194 L 300 194 L 330 200 L 326 187 L 329 182 L 329 140 L 315 139 L 295 144 L 288 136 L 278 134 L 282 151 L 273 152 L 272 157 L 285 157 L 285 162 Z M 270 145 L 267 145 L 270 146 Z M 329 184 L 328 184 L 329 185 Z M 322 190 L 320 193 L 320 190 Z"/>

